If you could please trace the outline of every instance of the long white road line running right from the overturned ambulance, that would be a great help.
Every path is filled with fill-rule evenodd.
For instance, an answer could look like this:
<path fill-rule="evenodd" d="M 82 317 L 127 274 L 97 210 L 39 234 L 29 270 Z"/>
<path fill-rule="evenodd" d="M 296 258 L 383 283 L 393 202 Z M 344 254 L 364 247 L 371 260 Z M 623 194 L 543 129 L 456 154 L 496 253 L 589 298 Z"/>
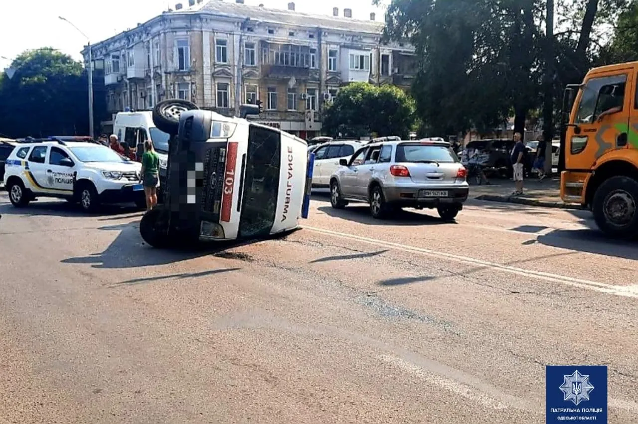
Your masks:
<path fill-rule="evenodd" d="M 638 288 L 636 286 L 618 286 L 618 285 L 611 285 L 606 283 L 599 283 L 598 281 L 590 281 L 590 280 L 581 279 L 581 278 L 573 278 L 573 277 L 563 276 L 560 274 L 551 274 L 550 272 L 541 272 L 541 271 L 533 271 L 531 269 L 517 268 L 517 267 L 512 267 L 510 265 L 497 264 L 496 262 L 488 262 L 486 260 L 465 257 L 461 255 L 454 255 L 452 253 L 445 253 L 442 251 L 424 249 L 424 248 L 419 248 L 416 246 L 408 246 L 407 244 L 392 243 L 390 241 L 371 239 L 369 237 L 355 236 L 354 234 L 348 234 L 345 232 L 337 232 L 337 231 L 331 231 L 331 230 L 326 230 L 322 228 L 308 227 L 308 226 L 304 226 L 303 228 L 306 230 L 318 232 L 320 234 L 325 234 L 328 236 L 341 237 L 344 239 L 361 241 L 363 243 L 374 244 L 375 246 L 392 248 L 395 250 L 406 251 L 409 253 L 420 253 L 421 255 L 426 255 L 426 256 L 435 257 L 435 258 L 445 258 L 449 260 L 454 260 L 456 262 L 463 262 L 465 264 L 480 265 L 482 267 L 496 269 L 498 271 L 503 271 L 503 272 L 509 272 L 510 274 L 516 274 L 519 276 L 544 279 L 545 281 L 550 281 L 551 283 L 561 283 L 563 285 L 585 288 L 587 290 L 594 290 L 596 292 L 638 298 Z"/>

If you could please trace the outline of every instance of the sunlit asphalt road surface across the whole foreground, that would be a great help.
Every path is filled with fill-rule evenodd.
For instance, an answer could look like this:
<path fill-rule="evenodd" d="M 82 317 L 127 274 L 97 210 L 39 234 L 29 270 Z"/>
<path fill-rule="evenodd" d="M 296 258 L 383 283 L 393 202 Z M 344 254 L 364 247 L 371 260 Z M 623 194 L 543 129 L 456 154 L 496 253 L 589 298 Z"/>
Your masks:
<path fill-rule="evenodd" d="M 584 212 L 318 196 L 285 239 L 194 252 L 133 209 L 0 214 L 0 422 L 541 423 L 545 364 L 608 365 L 609 422 L 638 422 L 638 245 Z"/>

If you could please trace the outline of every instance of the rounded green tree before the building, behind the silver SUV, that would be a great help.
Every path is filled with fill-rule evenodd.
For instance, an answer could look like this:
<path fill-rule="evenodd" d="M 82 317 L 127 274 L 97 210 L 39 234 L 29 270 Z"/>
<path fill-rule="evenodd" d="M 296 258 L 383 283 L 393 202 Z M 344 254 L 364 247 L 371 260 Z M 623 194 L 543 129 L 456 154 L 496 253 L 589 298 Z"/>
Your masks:
<path fill-rule="evenodd" d="M 331 136 L 407 137 L 414 125 L 414 102 L 392 85 L 350 83 L 325 109 L 323 131 Z"/>

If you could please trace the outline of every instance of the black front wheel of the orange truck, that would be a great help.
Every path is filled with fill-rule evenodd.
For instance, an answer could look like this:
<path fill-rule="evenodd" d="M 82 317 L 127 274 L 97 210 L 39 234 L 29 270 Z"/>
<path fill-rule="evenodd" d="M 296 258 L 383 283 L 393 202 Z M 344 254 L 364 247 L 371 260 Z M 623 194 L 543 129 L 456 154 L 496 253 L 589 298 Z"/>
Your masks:
<path fill-rule="evenodd" d="M 632 239 L 638 236 L 638 181 L 614 176 L 596 190 L 592 211 L 603 232 L 612 237 Z"/>

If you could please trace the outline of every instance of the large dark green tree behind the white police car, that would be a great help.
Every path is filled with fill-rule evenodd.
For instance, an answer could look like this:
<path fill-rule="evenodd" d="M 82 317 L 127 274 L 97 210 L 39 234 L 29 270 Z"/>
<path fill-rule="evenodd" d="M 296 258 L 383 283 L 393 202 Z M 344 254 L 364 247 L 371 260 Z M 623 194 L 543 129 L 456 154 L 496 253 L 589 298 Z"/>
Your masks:
<path fill-rule="evenodd" d="M 45 47 L 20 54 L 11 67 L 15 74 L 4 74 L 0 80 L 4 134 L 17 138 L 89 133 L 87 76 L 80 62 Z M 105 104 L 100 81 L 94 78 L 94 83 L 94 115 L 99 119 Z"/>

